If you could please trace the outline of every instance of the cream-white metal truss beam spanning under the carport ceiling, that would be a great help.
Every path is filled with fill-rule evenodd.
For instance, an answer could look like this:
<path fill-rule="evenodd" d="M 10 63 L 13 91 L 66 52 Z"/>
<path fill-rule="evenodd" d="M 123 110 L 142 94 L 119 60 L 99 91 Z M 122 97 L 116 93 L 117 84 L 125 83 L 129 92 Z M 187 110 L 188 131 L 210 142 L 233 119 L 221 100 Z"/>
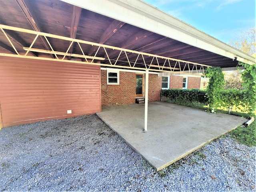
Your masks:
<path fill-rule="evenodd" d="M 171 73 L 179 73 L 179 74 L 198 74 L 202 75 L 204 74 L 204 70 L 207 67 L 207 65 L 199 64 L 199 63 L 194 63 L 194 62 L 188 62 L 184 60 L 178 60 L 174 58 L 169 58 L 169 57 L 164 57 L 164 56 L 159 56 L 155 54 L 148 54 L 144 52 L 138 52 L 135 50 L 128 50 L 124 48 L 119 48 L 119 47 L 114 47 L 114 46 L 109 46 L 109 45 L 104 45 L 104 44 L 98 44 L 94 42 L 89 42 L 89 41 L 84 41 L 84 40 L 78 40 L 74 38 L 68 38 L 64 36 L 58 36 L 54 34 L 48 34 L 48 33 L 43 33 L 43 32 L 38 32 L 38 31 L 33 31 L 33 30 L 27 30 L 23 28 L 16 28 L 12 26 L 6 26 L 0 24 L 0 30 L 4 33 L 4 36 L 6 39 L 9 41 L 10 46 L 14 49 L 16 54 L 5 54 L 5 53 L 0 53 L 1 56 L 10 56 L 10 57 L 20 57 L 20 58 L 34 58 L 34 59 L 40 59 L 40 60 L 54 60 L 54 61 L 59 61 L 59 62 L 74 62 L 74 63 L 82 63 L 82 64 L 94 64 L 94 65 L 100 65 L 100 66 L 106 66 L 106 67 L 113 67 L 113 68 L 127 68 L 127 69 L 132 69 L 132 70 L 150 70 L 150 71 L 155 71 L 155 72 L 171 72 Z M 13 30 L 16 32 L 22 32 L 26 34 L 33 34 L 34 35 L 34 40 L 31 42 L 29 47 L 24 47 L 23 49 L 26 50 L 26 53 L 18 52 L 17 49 L 15 48 L 14 44 L 6 34 L 5 30 Z M 48 43 L 49 47 L 51 50 L 42 50 L 38 48 L 34 48 L 34 43 L 38 38 L 44 38 L 46 42 Z M 57 40 L 64 40 L 69 43 L 69 46 L 66 50 L 66 52 L 60 52 L 59 50 L 56 50 L 50 42 L 49 38 L 52 38 L 52 41 L 54 39 Z M 78 44 L 80 51 L 82 54 L 73 54 L 70 53 L 70 47 L 74 44 Z M 88 56 L 85 54 L 85 51 L 81 46 L 82 44 L 85 45 L 90 45 L 90 46 L 95 46 L 96 52 L 92 56 Z M 111 58 L 109 56 L 110 52 L 113 52 L 115 50 L 118 52 L 118 57 L 117 58 Z M 55 58 L 45 58 L 45 57 L 34 57 L 34 56 L 28 56 L 29 52 L 38 52 L 38 53 L 44 53 L 44 54 L 53 54 Z M 106 58 L 102 58 L 99 53 L 104 53 L 106 55 Z M 126 60 L 120 60 L 120 56 L 125 55 Z M 129 56 L 132 55 L 132 58 L 136 58 L 134 60 L 131 60 Z M 75 60 L 67 60 L 68 56 L 73 56 L 73 57 L 78 57 L 78 58 L 83 58 L 85 62 L 80 62 L 80 61 L 75 61 Z M 138 62 L 140 58 L 140 62 Z M 96 63 L 100 61 L 104 61 L 103 63 Z"/>

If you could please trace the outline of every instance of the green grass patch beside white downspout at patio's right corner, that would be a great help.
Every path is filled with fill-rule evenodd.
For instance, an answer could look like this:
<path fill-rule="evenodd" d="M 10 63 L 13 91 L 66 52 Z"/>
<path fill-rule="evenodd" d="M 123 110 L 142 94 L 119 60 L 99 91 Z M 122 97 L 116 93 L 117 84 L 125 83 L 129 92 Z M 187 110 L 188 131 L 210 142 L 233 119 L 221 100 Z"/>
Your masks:
<path fill-rule="evenodd" d="M 254 120 L 254 122 L 246 128 L 236 128 L 230 132 L 230 136 L 235 138 L 241 144 L 245 144 L 249 147 L 256 146 L 256 121 Z"/>

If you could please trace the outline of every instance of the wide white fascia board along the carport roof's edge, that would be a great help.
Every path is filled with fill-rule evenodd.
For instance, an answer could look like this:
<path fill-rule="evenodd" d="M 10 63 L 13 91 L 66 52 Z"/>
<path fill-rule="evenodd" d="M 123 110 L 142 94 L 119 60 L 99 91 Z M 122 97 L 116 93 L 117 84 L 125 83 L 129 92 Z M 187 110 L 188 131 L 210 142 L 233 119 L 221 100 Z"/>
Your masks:
<path fill-rule="evenodd" d="M 151 32 L 184 42 L 247 64 L 256 59 L 186 24 L 142 0 L 62 0 L 69 4 L 126 22 Z"/>

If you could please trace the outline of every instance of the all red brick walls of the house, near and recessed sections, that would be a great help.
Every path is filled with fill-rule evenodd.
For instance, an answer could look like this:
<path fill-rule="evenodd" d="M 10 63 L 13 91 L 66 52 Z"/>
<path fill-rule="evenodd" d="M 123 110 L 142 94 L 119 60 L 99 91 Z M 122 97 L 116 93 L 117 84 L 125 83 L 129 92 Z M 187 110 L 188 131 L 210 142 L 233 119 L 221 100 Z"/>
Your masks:
<path fill-rule="evenodd" d="M 119 71 L 119 84 L 107 83 L 107 70 L 101 69 L 101 105 L 122 105 L 135 103 L 136 98 L 136 74 L 129 70 Z M 183 86 L 185 76 L 170 76 L 170 88 L 180 88 Z M 188 77 L 187 88 L 200 88 L 201 78 Z M 162 77 L 158 74 L 148 76 L 148 101 L 160 101 L 162 90 Z"/>

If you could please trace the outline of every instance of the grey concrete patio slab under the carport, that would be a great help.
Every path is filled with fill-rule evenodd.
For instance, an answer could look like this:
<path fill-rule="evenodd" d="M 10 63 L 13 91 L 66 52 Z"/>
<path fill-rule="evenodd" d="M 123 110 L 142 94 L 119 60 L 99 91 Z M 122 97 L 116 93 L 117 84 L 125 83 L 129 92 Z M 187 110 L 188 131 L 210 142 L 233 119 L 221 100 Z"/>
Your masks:
<path fill-rule="evenodd" d="M 103 106 L 97 115 L 157 171 L 169 166 L 247 120 L 228 114 L 152 102 L 144 133 L 144 104 Z"/>

